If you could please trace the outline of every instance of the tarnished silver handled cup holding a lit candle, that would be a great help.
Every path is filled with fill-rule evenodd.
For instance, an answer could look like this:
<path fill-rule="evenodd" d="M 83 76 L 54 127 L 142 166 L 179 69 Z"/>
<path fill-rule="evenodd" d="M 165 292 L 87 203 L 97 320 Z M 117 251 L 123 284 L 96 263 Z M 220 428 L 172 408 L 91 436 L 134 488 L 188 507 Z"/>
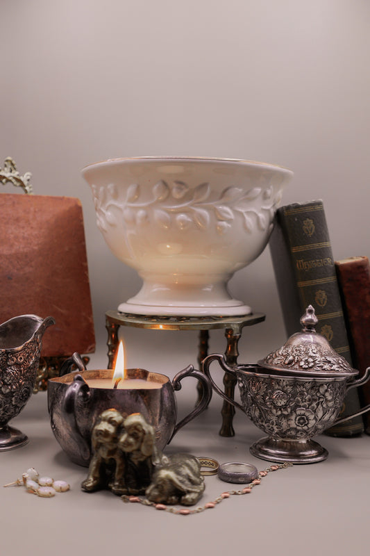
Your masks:
<path fill-rule="evenodd" d="M 81 466 L 90 463 L 92 429 L 106 409 L 117 409 L 123 416 L 142 414 L 154 428 L 158 449 L 162 450 L 181 427 L 208 406 L 212 397 L 208 378 L 192 365 L 170 380 L 141 368 L 125 369 L 124 378 L 112 369 L 85 370 L 78 354 L 66 362 L 65 368 L 73 362 L 78 370 L 49 379 L 48 409 L 58 443 L 69 459 Z M 203 393 L 194 409 L 178 422 L 175 392 L 181 389 L 185 377 L 201 382 Z"/>

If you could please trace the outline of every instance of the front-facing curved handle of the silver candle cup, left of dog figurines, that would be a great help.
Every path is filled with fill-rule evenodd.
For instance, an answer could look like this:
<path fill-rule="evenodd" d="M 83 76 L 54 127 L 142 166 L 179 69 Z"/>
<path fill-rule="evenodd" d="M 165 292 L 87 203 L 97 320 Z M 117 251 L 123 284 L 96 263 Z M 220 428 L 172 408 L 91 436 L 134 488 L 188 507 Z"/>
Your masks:
<path fill-rule="evenodd" d="M 76 419 L 78 411 L 76 406 L 77 404 L 86 405 L 90 402 L 90 398 L 90 388 L 87 382 L 85 382 L 85 379 L 83 379 L 83 377 L 78 373 L 74 376 L 72 384 L 69 384 L 67 387 L 65 397 L 62 402 L 62 410 L 66 416 L 70 434 L 78 446 L 81 459 L 83 459 L 87 464 L 89 463 L 91 457 L 90 438 L 88 438 L 86 434 L 83 434 L 80 426 L 78 425 L 78 420 Z"/>

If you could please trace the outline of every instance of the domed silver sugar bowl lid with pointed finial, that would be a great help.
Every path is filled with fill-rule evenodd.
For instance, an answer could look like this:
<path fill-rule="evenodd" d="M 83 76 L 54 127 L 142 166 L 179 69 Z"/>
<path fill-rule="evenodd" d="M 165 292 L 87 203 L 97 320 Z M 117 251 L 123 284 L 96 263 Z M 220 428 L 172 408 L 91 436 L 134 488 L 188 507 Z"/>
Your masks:
<path fill-rule="evenodd" d="M 318 319 L 309 305 L 301 317 L 302 332 L 290 336 L 279 350 L 269 353 L 258 364 L 278 374 L 305 377 L 353 377 L 358 375 L 314 327 Z"/>

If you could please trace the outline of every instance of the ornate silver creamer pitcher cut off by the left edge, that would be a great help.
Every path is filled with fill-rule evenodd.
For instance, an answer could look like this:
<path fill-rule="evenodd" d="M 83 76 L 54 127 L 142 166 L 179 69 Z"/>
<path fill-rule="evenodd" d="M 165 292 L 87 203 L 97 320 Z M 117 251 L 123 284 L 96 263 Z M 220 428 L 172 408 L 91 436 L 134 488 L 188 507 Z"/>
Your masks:
<path fill-rule="evenodd" d="M 26 434 L 8 422 L 22 411 L 31 396 L 42 336 L 53 324 L 53 317 L 21 315 L 0 325 L 0 451 L 28 442 Z"/>

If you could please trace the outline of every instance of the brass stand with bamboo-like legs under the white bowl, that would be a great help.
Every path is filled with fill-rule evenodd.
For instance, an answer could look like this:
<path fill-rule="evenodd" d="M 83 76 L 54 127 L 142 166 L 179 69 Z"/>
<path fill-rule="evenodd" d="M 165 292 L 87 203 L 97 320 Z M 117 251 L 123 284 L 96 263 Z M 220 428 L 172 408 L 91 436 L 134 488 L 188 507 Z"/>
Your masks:
<path fill-rule="evenodd" d="M 201 363 L 208 355 L 208 338 L 209 331 L 212 329 L 225 329 L 226 336 L 226 352 L 225 357 L 229 366 L 237 364 L 239 355 L 237 344 L 242 329 L 245 326 L 256 325 L 265 318 L 263 313 L 254 313 L 253 315 L 242 315 L 233 317 L 174 317 L 174 316 L 143 316 L 133 315 L 131 313 L 119 313 L 119 311 L 106 312 L 106 329 L 108 331 L 108 368 L 113 367 L 115 353 L 118 345 L 118 329 L 120 326 L 132 326 L 136 328 L 148 328 L 152 330 L 199 330 L 199 355 L 198 364 Z M 236 379 L 225 373 L 224 386 L 225 393 L 232 400 L 236 386 Z M 221 436 L 234 436 L 233 416 L 235 409 L 233 405 L 224 402 L 221 415 L 222 425 L 219 434 Z"/>

